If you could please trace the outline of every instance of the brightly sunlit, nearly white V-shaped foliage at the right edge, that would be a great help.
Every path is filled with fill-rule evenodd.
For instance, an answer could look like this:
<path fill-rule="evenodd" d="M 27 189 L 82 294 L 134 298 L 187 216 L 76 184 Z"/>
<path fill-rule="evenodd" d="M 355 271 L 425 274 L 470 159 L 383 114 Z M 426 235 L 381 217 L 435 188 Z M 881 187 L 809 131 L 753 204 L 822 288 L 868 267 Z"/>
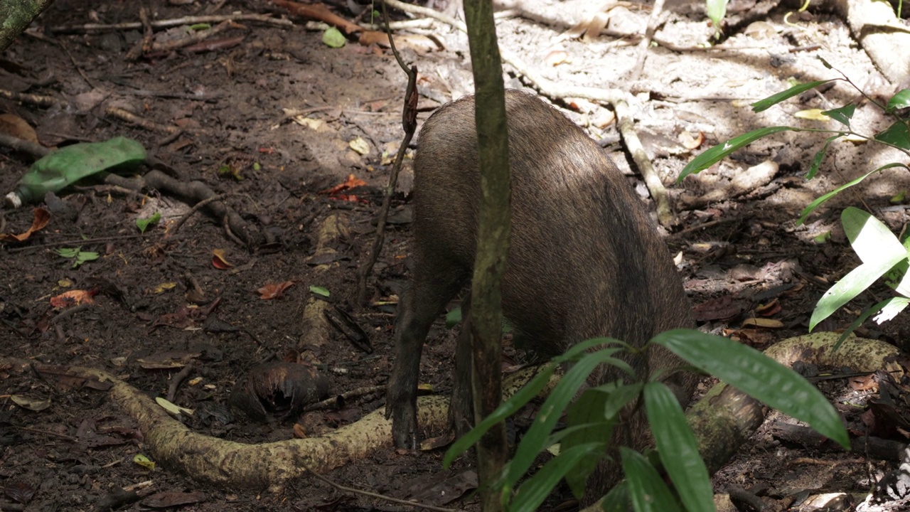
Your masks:
<path fill-rule="evenodd" d="M 809 319 L 809 331 L 907 258 L 907 251 L 895 234 L 870 213 L 850 207 L 841 214 L 841 221 L 850 245 L 863 263 L 824 292 Z"/>

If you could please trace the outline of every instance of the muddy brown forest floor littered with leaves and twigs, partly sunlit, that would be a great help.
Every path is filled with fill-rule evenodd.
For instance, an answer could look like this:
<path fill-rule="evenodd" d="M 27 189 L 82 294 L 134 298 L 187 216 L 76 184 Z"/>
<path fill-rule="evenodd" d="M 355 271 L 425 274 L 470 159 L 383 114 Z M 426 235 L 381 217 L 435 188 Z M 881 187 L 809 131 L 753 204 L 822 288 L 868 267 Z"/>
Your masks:
<path fill-rule="evenodd" d="M 353 19 L 341 4 L 333 8 Z M 666 23 L 655 37 L 659 44 L 648 49 L 637 79 L 632 73 L 640 55 L 638 35 L 649 5 L 498 4 L 501 46 L 554 83 L 620 87 L 629 94 L 634 128 L 670 188 L 680 223 L 664 234 L 702 327 L 765 348 L 805 333 L 815 302 L 856 264 L 840 228 L 840 211 L 849 205 L 869 208 L 895 232 L 901 230 L 905 200 L 895 196 L 910 188 L 910 175 L 888 169 L 830 201 L 801 226 L 799 211 L 825 191 L 885 163 L 906 163 L 905 157 L 840 141 L 830 148 L 819 176 L 806 181 L 825 135 L 786 132 L 680 184 L 674 179 L 703 148 L 753 128 L 834 126 L 796 118 L 800 110 L 857 102 L 856 131 L 884 128 L 880 113 L 844 82 L 760 114 L 748 108 L 788 87 L 788 80 L 839 77 L 818 56 L 875 99 L 889 97 L 895 85 L 832 12 L 810 7 L 791 15 L 788 24 L 785 6 L 732 4 L 723 49 L 709 50 L 699 46 L 714 30 L 703 4 L 668 4 Z M 370 281 L 369 306 L 357 305 L 356 271 L 369 254 L 390 156 L 401 140 L 406 78 L 388 49 L 353 41 L 326 46 L 323 26 L 264 2 L 141 3 L 152 20 L 235 12 L 287 20 L 284 25 L 238 21 L 214 37 L 217 44 L 193 51 L 151 48 L 130 59 L 130 51 L 142 44 L 141 28 L 60 29 L 137 22 L 139 5 L 57 0 L 0 56 L 0 89 L 55 101 L 38 105 L 0 98 L 0 113 L 24 119 L 46 147 L 134 138 L 160 160 L 164 174 L 180 182 L 197 180 L 221 194 L 238 222 L 258 238 L 249 247 L 227 235 L 221 216 L 209 210 L 190 214 L 177 229 L 177 220 L 196 200 L 187 204 L 174 190 L 136 194 L 109 183 L 80 183 L 59 198 L 47 198 L 51 217 L 43 230 L 25 241 L 0 242 L 0 356 L 104 369 L 152 397 L 166 396 L 178 379 L 171 401 L 196 411 L 185 420 L 188 426 L 248 444 L 320 435 L 379 409 L 392 364 L 395 302 L 409 273 L 410 159 L 392 201 L 393 223 Z M 577 26 L 597 16 L 609 16 L 609 30 L 581 36 Z M 406 19 L 400 12 L 395 17 Z M 186 24 L 156 31 L 157 42 L 187 34 Z M 472 91 L 463 34 L 439 22 L 398 34 L 402 55 L 420 69 L 420 121 Z M 514 67 L 505 70 L 509 87 L 532 85 Z M 612 110 L 578 98 L 551 99 L 603 141 L 653 210 Z M 140 125 L 119 111 L 154 125 Z M 0 148 L 0 191 L 14 189 L 31 161 L 25 152 Z M 327 192 L 349 176 L 366 184 Z M 753 179 L 745 184 L 733 179 L 743 176 Z M 140 232 L 136 220 L 156 212 L 161 220 Z M 33 217 L 31 207 L 6 210 L 0 232 L 23 232 Z M 76 266 L 58 253 L 76 247 L 99 257 Z M 262 298 L 264 287 L 276 296 Z M 88 304 L 59 302 L 71 291 L 94 296 Z M 324 291 L 328 298 L 320 295 Z M 886 293 L 876 289 L 875 300 L 857 300 L 822 329 L 844 328 Z M 312 314 L 323 309 L 348 313 L 366 341 L 354 337 L 354 343 L 326 327 L 321 314 Z M 906 325 L 900 317 L 881 326 L 870 323 L 863 334 L 901 346 Z M 440 319 L 427 342 L 420 381 L 436 393 L 450 389 L 453 338 Z M 521 363 L 521 353 L 508 353 L 504 366 Z M 229 406 L 232 390 L 251 369 L 300 359 L 327 379 L 331 395 L 366 391 L 339 407 L 265 424 Z M 178 378 L 187 364 L 190 372 Z M 842 403 L 859 401 L 844 391 L 849 385 L 845 379 L 824 381 L 824 391 Z M 136 419 L 106 391 L 59 374 L 17 373 L 0 365 L 0 404 L 2 510 L 106 509 L 112 502 L 104 500 L 123 488 L 135 489 L 141 498 L 117 505 L 128 510 L 410 509 L 342 492 L 310 476 L 274 493 L 208 486 L 172 468 L 140 465 L 136 456 L 151 455 Z M 905 415 L 902 407 L 895 411 Z M 854 435 L 864 434 L 860 412 L 844 407 Z M 896 464 L 780 435 L 786 421 L 766 422 L 715 477 L 717 492 L 746 489 L 774 509 L 796 507 L 824 492 L 862 494 L 870 476 Z M 443 471 L 442 453 L 405 453 L 385 445 L 326 476 L 344 486 L 476 510 L 470 461 Z M 447 498 L 439 499 L 442 494 Z M 546 509 L 574 506 L 561 486 Z"/>

